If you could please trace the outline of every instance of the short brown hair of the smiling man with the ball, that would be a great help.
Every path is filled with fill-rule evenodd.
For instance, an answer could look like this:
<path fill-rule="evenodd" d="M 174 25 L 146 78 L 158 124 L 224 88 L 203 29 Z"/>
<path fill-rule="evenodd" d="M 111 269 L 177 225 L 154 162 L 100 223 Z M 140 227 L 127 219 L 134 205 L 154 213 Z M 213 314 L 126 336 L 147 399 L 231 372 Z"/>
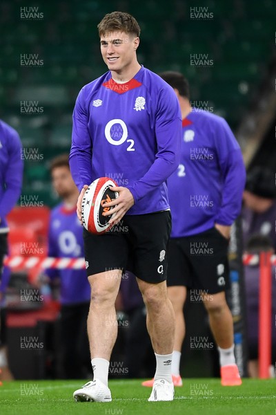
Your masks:
<path fill-rule="evenodd" d="M 116 30 L 125 33 L 131 33 L 137 37 L 140 35 L 140 26 L 137 20 L 125 12 L 112 12 L 105 15 L 98 24 L 99 37 L 104 36 L 108 32 Z"/>

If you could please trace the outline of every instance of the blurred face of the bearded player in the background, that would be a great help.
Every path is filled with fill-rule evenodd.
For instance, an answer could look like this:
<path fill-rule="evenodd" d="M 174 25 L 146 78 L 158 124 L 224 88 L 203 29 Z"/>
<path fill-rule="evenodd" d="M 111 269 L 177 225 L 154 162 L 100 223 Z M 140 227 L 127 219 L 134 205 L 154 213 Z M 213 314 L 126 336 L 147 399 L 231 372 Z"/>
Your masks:
<path fill-rule="evenodd" d="M 76 185 L 67 166 L 52 169 L 52 186 L 61 198 L 76 192 Z"/>

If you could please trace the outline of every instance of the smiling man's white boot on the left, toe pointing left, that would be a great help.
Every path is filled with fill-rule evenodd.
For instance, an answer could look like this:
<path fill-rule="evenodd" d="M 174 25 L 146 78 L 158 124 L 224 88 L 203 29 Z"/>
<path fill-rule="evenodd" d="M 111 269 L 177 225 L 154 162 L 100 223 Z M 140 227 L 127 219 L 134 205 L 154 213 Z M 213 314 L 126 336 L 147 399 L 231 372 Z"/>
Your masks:
<path fill-rule="evenodd" d="M 111 402 L 110 389 L 99 379 L 91 380 L 74 392 L 76 402 Z"/>

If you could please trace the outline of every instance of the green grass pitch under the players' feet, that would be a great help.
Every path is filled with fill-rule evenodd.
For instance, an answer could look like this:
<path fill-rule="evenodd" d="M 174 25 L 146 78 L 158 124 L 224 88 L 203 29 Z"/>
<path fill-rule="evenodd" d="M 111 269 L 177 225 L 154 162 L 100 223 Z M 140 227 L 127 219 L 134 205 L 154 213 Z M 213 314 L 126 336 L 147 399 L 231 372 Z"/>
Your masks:
<path fill-rule="evenodd" d="M 0 387 L 1 415 L 275 415 L 276 380 L 244 379 L 222 387 L 219 379 L 184 379 L 172 402 L 148 402 L 141 380 L 110 380 L 110 403 L 75 403 L 77 380 L 17 380 Z"/>

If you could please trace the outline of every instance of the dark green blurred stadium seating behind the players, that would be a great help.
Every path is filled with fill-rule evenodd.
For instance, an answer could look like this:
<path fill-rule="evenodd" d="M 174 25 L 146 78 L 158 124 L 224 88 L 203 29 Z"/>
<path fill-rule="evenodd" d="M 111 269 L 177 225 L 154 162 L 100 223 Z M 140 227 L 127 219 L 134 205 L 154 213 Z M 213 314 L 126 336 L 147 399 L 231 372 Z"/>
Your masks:
<path fill-rule="evenodd" d="M 191 100 L 226 117 L 235 131 L 275 50 L 275 4 L 246 1 L 36 1 L 1 2 L 0 117 L 12 124 L 26 151 L 23 194 L 44 205 L 57 203 L 48 160 L 70 149 L 71 116 L 83 84 L 106 71 L 97 24 L 106 12 L 124 10 L 141 25 L 139 62 L 152 71 L 186 74 Z M 38 7 L 42 19 L 22 19 L 21 7 Z M 191 19 L 190 8 L 213 17 Z M 193 9 L 192 9 L 193 10 Z M 21 55 L 38 54 L 40 66 L 21 66 Z M 205 67 L 191 56 L 207 54 Z M 201 55 L 201 59 L 203 59 Z M 41 113 L 21 113 L 21 101 L 37 102 Z M 35 106 L 35 104 L 33 104 Z"/>

